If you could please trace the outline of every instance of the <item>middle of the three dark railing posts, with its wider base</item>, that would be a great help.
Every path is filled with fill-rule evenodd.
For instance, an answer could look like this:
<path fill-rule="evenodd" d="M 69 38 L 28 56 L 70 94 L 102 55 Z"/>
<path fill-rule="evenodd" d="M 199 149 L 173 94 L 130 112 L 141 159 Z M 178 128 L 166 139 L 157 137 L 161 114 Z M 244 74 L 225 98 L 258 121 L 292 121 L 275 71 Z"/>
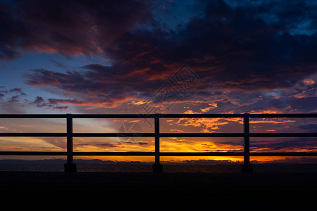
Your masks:
<path fill-rule="evenodd" d="M 160 115 L 154 115 L 154 129 L 155 129 L 155 162 L 153 165 L 154 173 L 163 172 L 162 165 L 160 163 Z"/>

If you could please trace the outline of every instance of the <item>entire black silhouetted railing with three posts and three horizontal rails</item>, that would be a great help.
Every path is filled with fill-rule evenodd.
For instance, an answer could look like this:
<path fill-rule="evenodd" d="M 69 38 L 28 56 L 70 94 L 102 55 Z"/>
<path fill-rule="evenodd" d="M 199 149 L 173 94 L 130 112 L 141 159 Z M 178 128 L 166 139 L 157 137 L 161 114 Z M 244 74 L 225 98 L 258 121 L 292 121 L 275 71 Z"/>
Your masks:
<path fill-rule="evenodd" d="M 66 172 L 75 172 L 76 165 L 73 156 L 154 156 L 154 172 L 162 172 L 161 156 L 243 156 L 242 172 L 252 172 L 250 156 L 317 156 L 315 152 L 250 152 L 250 137 L 317 137 L 317 133 L 250 133 L 250 118 L 316 118 L 317 114 L 3 114 L 0 118 L 66 118 L 66 133 L 0 133 L 0 136 L 11 137 L 67 137 L 67 151 L 0 151 L 0 155 L 66 155 Z M 152 118 L 154 119 L 154 133 L 73 133 L 73 118 Z M 161 118 L 243 118 L 242 133 L 160 133 L 159 120 Z M 154 152 L 74 152 L 73 137 L 154 137 Z M 160 152 L 160 137 L 243 137 L 243 152 Z"/>

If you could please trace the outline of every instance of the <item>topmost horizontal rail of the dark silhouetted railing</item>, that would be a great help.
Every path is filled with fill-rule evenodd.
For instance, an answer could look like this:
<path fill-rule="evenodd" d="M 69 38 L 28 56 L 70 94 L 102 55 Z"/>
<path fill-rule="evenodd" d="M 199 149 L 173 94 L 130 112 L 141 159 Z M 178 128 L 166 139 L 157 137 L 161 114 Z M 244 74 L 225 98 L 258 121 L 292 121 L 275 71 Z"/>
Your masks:
<path fill-rule="evenodd" d="M 71 114 L 72 118 L 243 118 L 241 114 Z M 66 118 L 66 114 L 0 114 L 0 118 Z M 309 118 L 317 113 L 249 114 L 253 118 Z"/>

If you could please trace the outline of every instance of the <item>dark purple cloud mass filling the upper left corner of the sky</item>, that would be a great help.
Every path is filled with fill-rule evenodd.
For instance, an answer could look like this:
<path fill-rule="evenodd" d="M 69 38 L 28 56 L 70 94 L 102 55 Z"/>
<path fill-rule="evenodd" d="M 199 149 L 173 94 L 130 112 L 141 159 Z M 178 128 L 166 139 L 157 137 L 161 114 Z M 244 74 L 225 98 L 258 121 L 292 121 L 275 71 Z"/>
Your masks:
<path fill-rule="evenodd" d="M 0 2 L 0 59 L 27 52 L 102 53 L 120 34 L 151 17 L 147 1 Z"/>

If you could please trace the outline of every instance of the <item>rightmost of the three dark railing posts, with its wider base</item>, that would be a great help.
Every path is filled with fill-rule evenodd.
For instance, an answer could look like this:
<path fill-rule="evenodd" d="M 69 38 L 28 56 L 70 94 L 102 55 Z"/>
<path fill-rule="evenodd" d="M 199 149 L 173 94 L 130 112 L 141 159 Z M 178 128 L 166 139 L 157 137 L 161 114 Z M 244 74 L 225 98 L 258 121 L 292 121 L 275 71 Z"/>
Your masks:
<path fill-rule="evenodd" d="M 250 164 L 250 124 L 249 114 L 245 113 L 243 117 L 244 130 L 244 164 L 242 165 L 243 173 L 252 173 L 253 165 Z"/>

